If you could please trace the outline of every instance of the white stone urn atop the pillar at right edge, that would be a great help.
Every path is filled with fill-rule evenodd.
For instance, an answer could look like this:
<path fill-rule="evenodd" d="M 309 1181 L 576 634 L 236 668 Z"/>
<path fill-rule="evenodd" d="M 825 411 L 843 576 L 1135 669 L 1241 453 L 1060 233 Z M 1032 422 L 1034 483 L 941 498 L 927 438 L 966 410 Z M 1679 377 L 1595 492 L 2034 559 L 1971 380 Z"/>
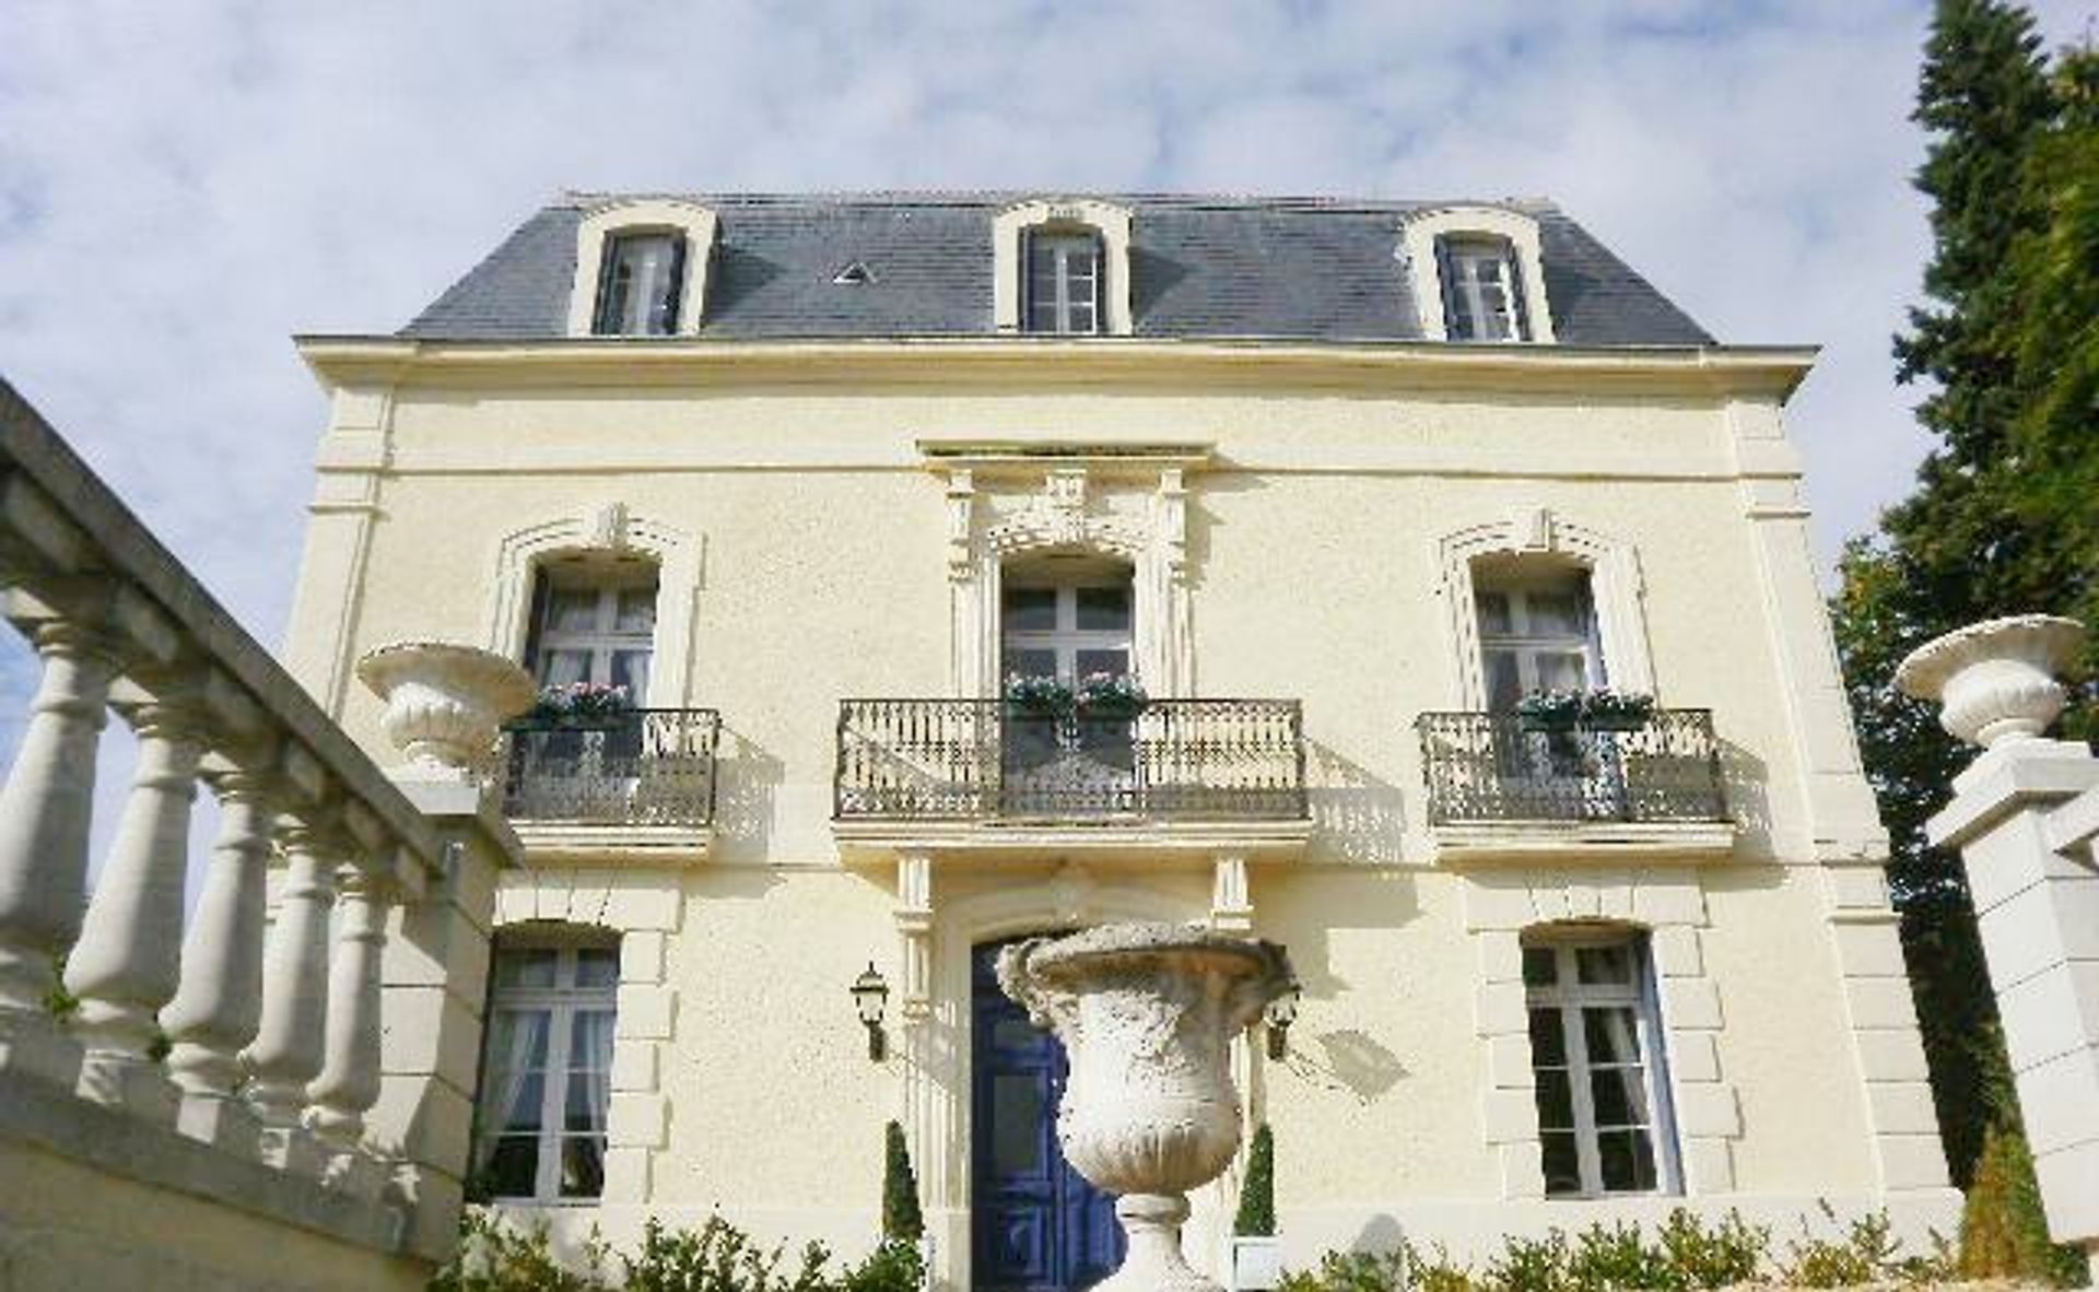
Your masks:
<path fill-rule="evenodd" d="M 1912 650 L 1895 667 L 1895 688 L 1939 701 L 1939 726 L 1971 745 L 2030 740 L 2063 711 L 2068 690 L 2055 675 L 2082 642 L 2076 619 L 1984 619 Z"/>

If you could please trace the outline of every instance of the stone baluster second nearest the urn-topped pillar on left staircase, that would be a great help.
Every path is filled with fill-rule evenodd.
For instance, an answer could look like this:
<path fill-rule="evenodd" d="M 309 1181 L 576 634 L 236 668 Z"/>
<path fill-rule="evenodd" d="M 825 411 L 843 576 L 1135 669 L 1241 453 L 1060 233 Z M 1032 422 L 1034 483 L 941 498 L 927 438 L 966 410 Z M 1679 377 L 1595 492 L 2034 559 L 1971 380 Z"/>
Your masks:
<path fill-rule="evenodd" d="M 246 1051 L 248 1103 L 262 1122 L 262 1160 L 319 1175 L 321 1154 L 302 1116 L 306 1082 L 321 1074 L 327 1011 L 327 910 L 334 866 L 306 824 L 283 833 L 285 870 L 277 919 L 262 946 L 262 1019 Z"/>

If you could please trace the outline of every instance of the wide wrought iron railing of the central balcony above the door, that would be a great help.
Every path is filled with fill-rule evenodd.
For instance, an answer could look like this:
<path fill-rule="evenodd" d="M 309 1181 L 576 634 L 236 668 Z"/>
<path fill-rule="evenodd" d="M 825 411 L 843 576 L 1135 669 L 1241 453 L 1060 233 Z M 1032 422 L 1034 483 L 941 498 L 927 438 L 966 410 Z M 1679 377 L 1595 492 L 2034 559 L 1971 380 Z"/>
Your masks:
<path fill-rule="evenodd" d="M 1297 820 L 1297 701 L 1033 715 L 1005 701 L 844 701 L 838 820 Z"/>

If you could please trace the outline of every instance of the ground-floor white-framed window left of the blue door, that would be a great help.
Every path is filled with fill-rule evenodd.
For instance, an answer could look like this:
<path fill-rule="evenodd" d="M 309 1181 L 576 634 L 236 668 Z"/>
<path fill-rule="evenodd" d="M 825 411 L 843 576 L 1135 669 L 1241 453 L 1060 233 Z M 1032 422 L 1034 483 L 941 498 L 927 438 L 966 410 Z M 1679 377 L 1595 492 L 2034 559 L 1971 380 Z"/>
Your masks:
<path fill-rule="evenodd" d="M 573 1202 L 602 1191 L 617 992 L 617 942 L 497 946 L 474 1196 Z"/>

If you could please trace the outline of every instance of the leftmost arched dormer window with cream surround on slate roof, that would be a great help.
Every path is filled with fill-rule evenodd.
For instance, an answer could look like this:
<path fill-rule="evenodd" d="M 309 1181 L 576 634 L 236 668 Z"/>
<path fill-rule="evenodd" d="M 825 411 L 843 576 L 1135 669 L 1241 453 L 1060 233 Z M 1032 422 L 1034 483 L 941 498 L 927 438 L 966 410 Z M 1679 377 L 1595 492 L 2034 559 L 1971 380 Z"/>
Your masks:
<path fill-rule="evenodd" d="M 569 336 L 695 336 L 716 216 L 688 201 L 613 201 L 575 233 Z"/>

